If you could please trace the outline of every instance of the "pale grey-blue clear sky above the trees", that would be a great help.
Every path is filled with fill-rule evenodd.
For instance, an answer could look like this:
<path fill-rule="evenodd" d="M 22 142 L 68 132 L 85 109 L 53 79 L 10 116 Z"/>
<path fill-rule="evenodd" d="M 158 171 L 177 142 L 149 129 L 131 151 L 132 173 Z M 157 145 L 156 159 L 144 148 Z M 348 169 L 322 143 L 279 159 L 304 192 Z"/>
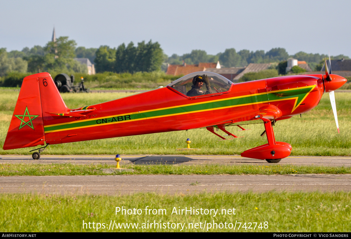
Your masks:
<path fill-rule="evenodd" d="M 0 0 L 0 48 L 69 36 L 77 47 L 159 42 L 165 54 L 282 47 L 351 57 L 351 1 Z"/>

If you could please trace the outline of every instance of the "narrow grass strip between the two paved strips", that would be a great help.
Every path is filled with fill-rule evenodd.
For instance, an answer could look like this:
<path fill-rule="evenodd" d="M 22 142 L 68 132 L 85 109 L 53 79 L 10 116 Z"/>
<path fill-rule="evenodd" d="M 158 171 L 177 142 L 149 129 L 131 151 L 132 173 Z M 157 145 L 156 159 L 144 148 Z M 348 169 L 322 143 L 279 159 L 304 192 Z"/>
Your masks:
<path fill-rule="evenodd" d="M 34 164 L 21 163 L 0 164 L 0 176 L 53 176 L 53 175 L 106 175 L 102 168 L 113 168 L 108 164 L 81 165 L 81 164 Z M 202 164 L 183 166 L 177 164 L 128 164 L 122 168 L 133 169 L 133 172 L 116 172 L 120 174 L 161 174 L 161 175 L 284 175 L 284 174 L 351 174 L 351 167 L 326 166 L 295 166 L 290 164 L 259 165 L 218 165 Z"/>

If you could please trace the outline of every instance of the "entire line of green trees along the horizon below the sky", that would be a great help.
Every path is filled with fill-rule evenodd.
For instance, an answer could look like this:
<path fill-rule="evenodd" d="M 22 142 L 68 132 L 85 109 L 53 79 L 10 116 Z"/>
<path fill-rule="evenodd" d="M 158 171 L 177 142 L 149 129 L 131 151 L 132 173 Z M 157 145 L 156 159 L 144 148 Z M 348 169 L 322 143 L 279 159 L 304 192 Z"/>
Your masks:
<path fill-rule="evenodd" d="M 22 51 L 7 52 L 6 48 L 0 48 L 0 77 L 9 72 L 80 72 L 86 73 L 85 65 L 74 61 L 73 58 L 88 58 L 95 64 L 96 72 L 151 72 L 160 69 L 166 71 L 168 64 L 198 64 L 199 62 L 217 62 L 224 67 L 244 67 L 250 63 L 273 63 L 278 64 L 277 69 L 282 73 L 285 69 L 286 60 L 289 57 L 306 61 L 313 70 L 320 70 L 324 63 L 325 54 L 312 54 L 299 51 L 289 55 L 284 48 L 272 48 L 264 50 L 236 51 L 234 48 L 225 49 L 216 55 L 207 54 L 205 50 L 192 50 L 181 56 L 164 54 L 158 42 L 133 42 L 120 44 L 117 48 L 101 45 L 99 48 L 77 47 L 74 40 L 68 36 L 57 38 L 56 42 L 49 41 L 44 47 L 35 45 L 32 48 L 25 47 Z M 350 59 L 344 55 L 331 56 L 332 59 Z M 282 69 L 281 71 L 279 69 Z M 297 69 L 298 70 L 298 69 Z"/>

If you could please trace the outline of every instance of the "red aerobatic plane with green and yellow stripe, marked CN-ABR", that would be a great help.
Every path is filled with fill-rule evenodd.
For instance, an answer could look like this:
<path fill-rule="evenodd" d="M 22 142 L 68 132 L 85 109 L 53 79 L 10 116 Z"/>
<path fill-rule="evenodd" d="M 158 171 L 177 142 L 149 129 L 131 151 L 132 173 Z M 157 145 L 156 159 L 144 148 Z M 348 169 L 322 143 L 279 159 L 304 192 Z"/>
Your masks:
<path fill-rule="evenodd" d="M 203 77 L 208 80 L 209 90 L 187 96 L 197 75 L 208 76 Z M 291 152 L 289 143 L 275 140 L 274 122 L 311 110 L 324 92 L 330 94 L 339 131 L 334 91 L 345 82 L 345 78 L 332 75 L 327 64 L 325 75 L 282 76 L 237 84 L 213 72 L 195 72 L 166 87 L 71 110 L 50 74 L 38 73 L 23 80 L 3 148 L 195 128 L 207 128 L 225 140 L 215 128 L 237 138 L 227 131 L 227 126 L 244 129 L 240 125 L 263 123 L 268 143 L 246 150 L 241 156 L 274 163 Z M 42 148 L 33 153 L 33 159 L 39 159 Z"/>

